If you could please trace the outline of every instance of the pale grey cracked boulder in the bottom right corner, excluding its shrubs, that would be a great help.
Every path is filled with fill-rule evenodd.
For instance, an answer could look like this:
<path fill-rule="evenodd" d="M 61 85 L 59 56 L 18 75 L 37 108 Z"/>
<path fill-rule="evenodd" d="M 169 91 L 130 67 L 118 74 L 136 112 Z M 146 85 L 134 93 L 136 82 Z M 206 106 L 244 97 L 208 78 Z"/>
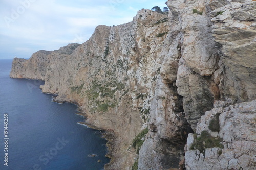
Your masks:
<path fill-rule="evenodd" d="M 216 101 L 197 125 L 197 134 L 206 130 L 223 139 L 223 148 L 205 148 L 205 153 L 191 150 L 195 141 L 189 134 L 186 147 L 186 169 L 255 169 L 256 168 L 256 100 L 228 105 Z M 219 115 L 220 131 L 209 130 L 212 118 Z M 196 156 L 195 156 L 196 155 Z"/>

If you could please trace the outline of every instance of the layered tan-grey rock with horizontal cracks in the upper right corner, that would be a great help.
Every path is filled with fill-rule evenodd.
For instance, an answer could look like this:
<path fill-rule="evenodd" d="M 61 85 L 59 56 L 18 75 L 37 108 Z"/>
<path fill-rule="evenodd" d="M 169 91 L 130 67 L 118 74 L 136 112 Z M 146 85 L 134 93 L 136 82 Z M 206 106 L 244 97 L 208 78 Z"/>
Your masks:
<path fill-rule="evenodd" d="M 225 96 L 238 102 L 255 99 L 256 30 L 251 29 L 256 15 L 256 3 L 231 2 L 211 12 L 215 17 L 215 41 L 221 45 Z M 217 15 L 216 12 L 219 12 Z M 223 13 L 221 13 L 223 12 Z"/>

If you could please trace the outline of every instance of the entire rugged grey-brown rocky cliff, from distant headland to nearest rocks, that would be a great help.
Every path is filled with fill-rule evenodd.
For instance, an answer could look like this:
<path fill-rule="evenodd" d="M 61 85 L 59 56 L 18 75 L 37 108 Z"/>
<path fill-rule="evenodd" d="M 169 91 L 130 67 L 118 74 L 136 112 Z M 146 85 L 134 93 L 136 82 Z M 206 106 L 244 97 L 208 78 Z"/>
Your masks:
<path fill-rule="evenodd" d="M 167 1 L 83 44 L 14 59 L 109 133 L 106 169 L 254 169 L 256 2 Z M 194 133 L 194 134 L 192 134 Z"/>

